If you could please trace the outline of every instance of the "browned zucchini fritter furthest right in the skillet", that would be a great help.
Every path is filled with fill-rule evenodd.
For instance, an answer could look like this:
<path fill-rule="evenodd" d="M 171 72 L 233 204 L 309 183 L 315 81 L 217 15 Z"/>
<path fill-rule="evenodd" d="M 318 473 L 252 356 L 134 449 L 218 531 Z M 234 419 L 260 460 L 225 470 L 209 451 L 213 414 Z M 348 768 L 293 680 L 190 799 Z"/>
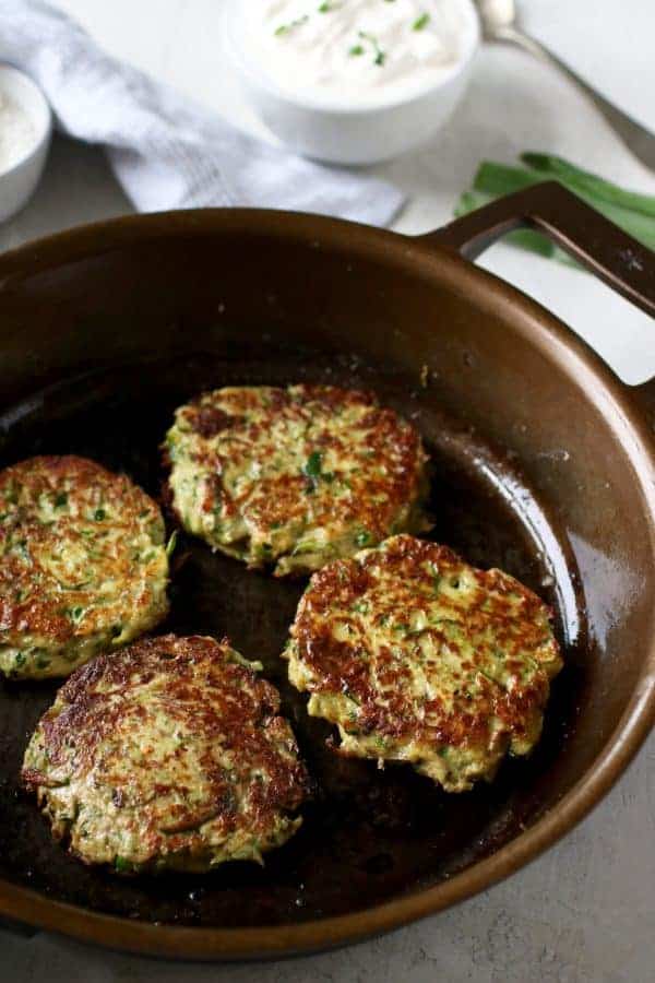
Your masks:
<path fill-rule="evenodd" d="M 449 792 L 531 751 L 562 666 L 536 594 L 406 535 L 314 573 L 284 654 L 341 753 L 410 761 Z"/>

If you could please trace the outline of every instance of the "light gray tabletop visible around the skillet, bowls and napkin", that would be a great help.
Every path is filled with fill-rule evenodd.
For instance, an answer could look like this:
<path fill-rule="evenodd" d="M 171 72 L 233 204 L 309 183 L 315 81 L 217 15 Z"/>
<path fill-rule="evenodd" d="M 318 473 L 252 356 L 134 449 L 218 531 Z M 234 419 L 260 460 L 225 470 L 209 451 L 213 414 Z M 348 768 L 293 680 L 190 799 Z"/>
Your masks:
<path fill-rule="evenodd" d="M 584 0 L 587 4 L 587 0 Z M 236 125 L 266 135 L 216 57 L 221 0 L 61 0 L 108 48 L 201 99 Z M 579 56 L 592 78 L 630 99 L 635 54 L 655 36 L 652 0 L 629 0 L 650 31 L 618 31 L 611 0 L 595 2 L 594 46 L 571 21 L 570 0 L 531 0 L 531 26 Z M 569 8 L 569 13 L 567 11 Z M 570 14 L 570 16 L 569 16 Z M 605 19 L 605 21 L 604 21 Z M 602 22 L 606 23 L 602 29 Z M 575 26 L 574 36 L 567 23 Z M 611 72 L 603 46 L 611 52 Z M 639 57 L 638 57 L 639 56 Z M 621 90 L 621 79 L 630 85 Z M 614 86 L 614 88 L 612 88 Z M 626 106 L 624 106 L 626 107 Z M 644 105 L 635 107 L 643 114 Z M 647 109 L 647 107 L 646 107 Z M 425 232 L 448 221 L 483 157 L 511 161 L 524 149 L 565 154 L 626 183 L 655 192 L 646 174 L 594 110 L 549 70 L 504 49 L 485 50 L 456 119 L 434 145 L 379 168 L 409 193 L 397 227 Z M 31 205 L 0 227 L 0 249 L 78 223 L 130 211 L 98 151 L 59 138 Z M 495 247 L 484 264 L 563 317 L 631 383 L 655 375 L 653 324 L 591 276 L 538 257 Z M 31 940 L 0 932 L 0 980 L 493 981 L 648 983 L 655 979 L 655 737 L 617 787 L 568 839 L 509 881 L 442 915 L 341 952 L 243 967 L 165 964 L 107 954 L 62 938 Z"/>

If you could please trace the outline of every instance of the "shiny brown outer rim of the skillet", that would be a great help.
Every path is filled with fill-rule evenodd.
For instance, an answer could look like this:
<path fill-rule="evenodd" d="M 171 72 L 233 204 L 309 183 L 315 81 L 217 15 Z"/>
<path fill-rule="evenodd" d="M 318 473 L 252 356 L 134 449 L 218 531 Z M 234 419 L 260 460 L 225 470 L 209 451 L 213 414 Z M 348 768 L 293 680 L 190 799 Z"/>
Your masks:
<path fill-rule="evenodd" d="M 130 241 L 188 235 L 233 233 L 299 240 L 308 248 L 341 247 L 352 254 L 386 256 L 396 267 L 412 264 L 414 275 L 458 279 L 474 303 L 496 307 L 511 300 L 515 330 L 546 351 L 550 359 L 571 359 L 583 370 L 577 384 L 594 395 L 603 417 L 628 454 L 651 511 L 648 537 L 655 557 L 655 447 L 646 421 L 631 394 L 600 357 L 546 308 L 491 273 L 428 240 L 376 229 L 342 220 L 300 213 L 250 209 L 207 209 L 128 215 L 79 226 L 8 251 L 0 257 L 2 292 L 21 275 L 33 275 L 52 264 L 62 265 L 121 248 Z M 63 253 L 63 256 L 62 256 Z M 519 321 L 521 323 L 519 323 Z M 623 773 L 655 724 L 655 637 L 644 652 L 635 690 L 603 753 L 572 789 L 534 826 L 500 850 L 449 880 L 346 915 L 293 925 L 205 928 L 155 925 L 102 914 L 68 902 L 48 899 L 31 888 L 0 879 L 0 914 L 38 928 L 59 932 L 83 941 L 151 956 L 195 960 L 281 958 L 348 945 L 436 914 L 497 884 L 517 871 L 577 825 Z"/>

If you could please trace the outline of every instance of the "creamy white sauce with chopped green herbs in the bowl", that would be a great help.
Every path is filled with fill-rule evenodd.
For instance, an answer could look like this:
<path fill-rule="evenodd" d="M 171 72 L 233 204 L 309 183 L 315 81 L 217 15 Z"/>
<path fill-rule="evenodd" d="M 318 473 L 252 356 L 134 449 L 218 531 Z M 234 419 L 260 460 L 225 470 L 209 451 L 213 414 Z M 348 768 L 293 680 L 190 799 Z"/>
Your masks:
<path fill-rule="evenodd" d="M 468 0 L 247 0 L 241 10 L 260 73 L 296 97 L 349 108 L 439 84 L 477 37 Z"/>

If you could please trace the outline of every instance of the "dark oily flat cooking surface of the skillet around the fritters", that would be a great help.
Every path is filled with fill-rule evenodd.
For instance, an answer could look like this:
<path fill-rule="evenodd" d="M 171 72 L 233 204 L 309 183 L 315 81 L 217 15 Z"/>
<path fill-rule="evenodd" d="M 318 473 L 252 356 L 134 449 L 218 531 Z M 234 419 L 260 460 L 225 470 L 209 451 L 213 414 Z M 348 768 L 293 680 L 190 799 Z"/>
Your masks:
<path fill-rule="evenodd" d="M 321 360 L 322 359 L 322 360 Z M 171 612 L 163 630 L 227 633 L 261 659 L 279 688 L 301 751 L 318 780 L 300 832 L 266 865 L 225 865 L 209 877 L 118 879 L 86 868 L 50 840 L 34 803 L 20 792 L 26 741 L 56 684 L 0 685 L 0 876 L 50 898 L 96 911 L 164 923 L 245 926 L 343 914 L 436 884 L 502 845 L 538 815 L 549 769 L 585 688 L 584 609 L 565 537 L 531 493 L 514 462 L 433 408 L 418 380 L 346 357 L 329 360 L 260 351 L 248 360 L 201 355 L 96 371 L 34 394 L 0 417 L 4 466 L 35 453 L 85 454 L 127 471 L 157 495 L 158 445 L 174 408 L 224 384 L 332 382 L 376 390 L 420 429 L 434 461 L 433 537 L 471 562 L 499 566 L 556 609 L 565 668 L 556 680 L 543 739 L 529 760 L 508 760 L 492 785 L 445 795 L 406 767 L 378 771 L 325 747 L 330 727 L 310 720 L 286 682 L 278 653 L 302 591 L 184 536 L 176 550 Z"/>

